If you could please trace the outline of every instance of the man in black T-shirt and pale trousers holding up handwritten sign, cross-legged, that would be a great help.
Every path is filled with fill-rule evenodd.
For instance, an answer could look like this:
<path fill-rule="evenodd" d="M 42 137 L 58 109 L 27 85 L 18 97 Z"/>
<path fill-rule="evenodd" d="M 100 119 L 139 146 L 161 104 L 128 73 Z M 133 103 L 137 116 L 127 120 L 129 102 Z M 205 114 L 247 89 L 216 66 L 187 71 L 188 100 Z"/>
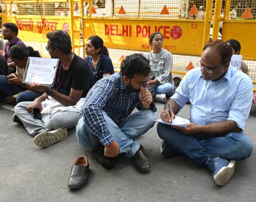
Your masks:
<path fill-rule="evenodd" d="M 67 32 L 53 31 L 46 37 L 46 50 L 51 58 L 60 61 L 54 86 L 32 83 L 32 89 L 43 94 L 33 102 L 18 103 L 14 108 L 30 136 L 34 137 L 34 144 L 42 148 L 67 138 L 67 129 L 75 127 L 84 97 L 94 85 L 87 62 L 72 52 Z"/>

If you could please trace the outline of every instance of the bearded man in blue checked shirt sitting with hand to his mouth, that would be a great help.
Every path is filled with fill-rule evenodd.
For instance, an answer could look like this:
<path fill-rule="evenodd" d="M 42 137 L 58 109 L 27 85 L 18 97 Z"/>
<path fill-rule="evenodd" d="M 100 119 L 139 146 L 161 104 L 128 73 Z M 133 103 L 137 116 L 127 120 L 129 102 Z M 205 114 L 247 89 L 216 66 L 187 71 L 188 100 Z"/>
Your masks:
<path fill-rule="evenodd" d="M 100 79 L 89 91 L 76 136 L 104 168 L 113 168 L 113 157 L 125 154 L 138 171 L 150 170 L 150 161 L 135 142 L 154 125 L 156 107 L 145 88 L 150 77 L 148 60 L 132 54 L 123 60 L 119 73 Z M 131 114 L 135 107 L 139 111 Z"/>

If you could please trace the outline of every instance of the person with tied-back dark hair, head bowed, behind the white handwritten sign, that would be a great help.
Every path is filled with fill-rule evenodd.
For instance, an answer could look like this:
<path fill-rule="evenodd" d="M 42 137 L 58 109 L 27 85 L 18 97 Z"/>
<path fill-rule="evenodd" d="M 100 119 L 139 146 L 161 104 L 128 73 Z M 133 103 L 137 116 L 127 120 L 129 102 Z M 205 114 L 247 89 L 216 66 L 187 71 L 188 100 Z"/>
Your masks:
<path fill-rule="evenodd" d="M 12 46 L 9 51 L 9 58 L 14 62 L 16 66 L 16 72 L 9 74 L 5 77 L 0 76 L 0 101 L 4 101 L 5 98 L 11 97 L 19 93 L 16 98 L 16 102 L 22 101 L 34 101 L 36 97 L 39 97 L 42 93 L 37 93 L 32 90 L 29 84 L 22 84 L 26 64 L 28 57 L 41 57 L 38 51 L 35 51 L 32 47 L 24 47 L 20 45 Z"/>

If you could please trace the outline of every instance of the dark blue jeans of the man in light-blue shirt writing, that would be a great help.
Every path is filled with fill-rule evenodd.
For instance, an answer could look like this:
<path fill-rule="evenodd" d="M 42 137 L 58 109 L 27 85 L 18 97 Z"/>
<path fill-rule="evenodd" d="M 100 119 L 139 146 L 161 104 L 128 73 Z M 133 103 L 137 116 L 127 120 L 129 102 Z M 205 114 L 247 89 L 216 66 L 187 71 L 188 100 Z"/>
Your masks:
<path fill-rule="evenodd" d="M 188 156 L 197 166 L 208 167 L 216 157 L 226 160 L 244 160 L 251 156 L 253 151 L 253 142 L 243 133 L 197 139 L 162 123 L 158 123 L 157 132 L 173 152 Z"/>

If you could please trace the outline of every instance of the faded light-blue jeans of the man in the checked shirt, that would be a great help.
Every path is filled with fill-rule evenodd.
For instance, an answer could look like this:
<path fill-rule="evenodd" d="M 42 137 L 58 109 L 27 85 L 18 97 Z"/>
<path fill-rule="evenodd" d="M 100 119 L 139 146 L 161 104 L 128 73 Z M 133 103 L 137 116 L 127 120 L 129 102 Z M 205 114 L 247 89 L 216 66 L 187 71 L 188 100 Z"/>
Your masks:
<path fill-rule="evenodd" d="M 135 142 L 139 136 L 145 134 L 154 125 L 154 112 L 152 110 L 141 110 L 133 113 L 123 120 L 122 125 L 117 125 L 106 112 L 102 111 L 106 126 L 117 141 L 121 154 L 127 154 L 129 158 L 135 156 L 139 150 L 140 144 Z M 99 134 L 103 135 L 103 134 Z M 84 117 L 79 119 L 77 123 L 76 137 L 81 146 L 88 150 L 92 150 L 94 146 L 99 144 L 98 137 L 94 136 L 88 126 L 84 122 Z"/>

